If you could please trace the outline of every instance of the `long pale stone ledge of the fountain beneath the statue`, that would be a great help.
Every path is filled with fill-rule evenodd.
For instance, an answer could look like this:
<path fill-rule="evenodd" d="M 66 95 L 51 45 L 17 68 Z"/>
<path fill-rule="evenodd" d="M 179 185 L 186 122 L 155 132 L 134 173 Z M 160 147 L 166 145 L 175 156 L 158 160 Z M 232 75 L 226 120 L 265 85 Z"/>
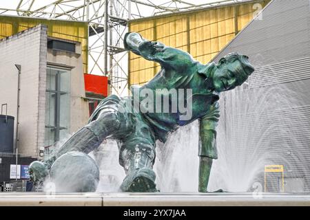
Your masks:
<path fill-rule="evenodd" d="M 0 206 L 310 206 L 310 194 L 3 192 Z"/>

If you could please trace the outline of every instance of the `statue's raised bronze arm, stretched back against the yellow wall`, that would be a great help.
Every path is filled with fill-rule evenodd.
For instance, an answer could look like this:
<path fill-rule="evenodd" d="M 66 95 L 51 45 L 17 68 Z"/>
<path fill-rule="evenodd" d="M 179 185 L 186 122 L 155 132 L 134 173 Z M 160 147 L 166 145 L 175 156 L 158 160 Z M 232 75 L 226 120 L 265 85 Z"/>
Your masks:
<path fill-rule="evenodd" d="M 163 67 L 173 69 L 185 69 L 195 61 L 190 54 L 176 48 L 167 47 L 163 43 L 148 41 L 134 32 L 125 35 L 124 45 L 130 50 L 148 61 L 160 63 Z"/>

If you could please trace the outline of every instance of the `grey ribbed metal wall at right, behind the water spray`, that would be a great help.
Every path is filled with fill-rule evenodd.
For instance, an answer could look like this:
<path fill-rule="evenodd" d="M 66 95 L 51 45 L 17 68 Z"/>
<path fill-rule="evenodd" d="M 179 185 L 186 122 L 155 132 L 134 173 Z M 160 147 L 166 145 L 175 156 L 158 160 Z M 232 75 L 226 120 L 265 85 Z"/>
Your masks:
<path fill-rule="evenodd" d="M 236 159 L 244 175 L 256 169 L 262 186 L 265 165 L 284 165 L 285 186 L 303 181 L 285 192 L 310 190 L 309 2 L 271 1 L 261 20 L 249 23 L 215 58 L 240 52 L 256 67 L 249 85 L 221 97 L 218 132 L 227 141 L 218 140 L 220 154 L 229 152 L 225 159 Z M 267 192 L 280 191 L 280 184 L 278 174 L 267 175 Z"/>

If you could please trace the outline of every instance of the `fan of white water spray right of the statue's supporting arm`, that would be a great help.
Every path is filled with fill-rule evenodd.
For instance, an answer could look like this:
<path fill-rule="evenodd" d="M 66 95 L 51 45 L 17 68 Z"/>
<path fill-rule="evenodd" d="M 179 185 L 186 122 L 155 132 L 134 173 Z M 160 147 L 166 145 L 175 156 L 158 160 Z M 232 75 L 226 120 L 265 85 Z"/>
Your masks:
<path fill-rule="evenodd" d="M 298 157 L 296 147 L 309 136 L 301 140 L 292 135 L 298 129 L 296 122 L 306 118 L 302 113 L 293 114 L 300 104 L 296 95 L 286 85 L 223 94 L 221 113 L 225 116 L 218 127 L 219 159 L 211 171 L 209 190 L 247 192 L 255 181 L 263 186 L 265 165 L 271 164 L 306 175 L 307 168 L 298 165 L 304 157 Z M 273 186 L 273 191 L 280 189 Z"/>

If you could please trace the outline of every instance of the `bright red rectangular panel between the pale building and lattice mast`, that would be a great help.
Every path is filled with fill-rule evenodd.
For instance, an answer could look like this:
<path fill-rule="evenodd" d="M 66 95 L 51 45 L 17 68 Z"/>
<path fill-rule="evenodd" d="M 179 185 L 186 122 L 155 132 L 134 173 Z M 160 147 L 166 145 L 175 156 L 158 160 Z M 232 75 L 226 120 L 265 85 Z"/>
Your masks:
<path fill-rule="evenodd" d="M 85 91 L 107 97 L 107 76 L 84 74 Z"/>

